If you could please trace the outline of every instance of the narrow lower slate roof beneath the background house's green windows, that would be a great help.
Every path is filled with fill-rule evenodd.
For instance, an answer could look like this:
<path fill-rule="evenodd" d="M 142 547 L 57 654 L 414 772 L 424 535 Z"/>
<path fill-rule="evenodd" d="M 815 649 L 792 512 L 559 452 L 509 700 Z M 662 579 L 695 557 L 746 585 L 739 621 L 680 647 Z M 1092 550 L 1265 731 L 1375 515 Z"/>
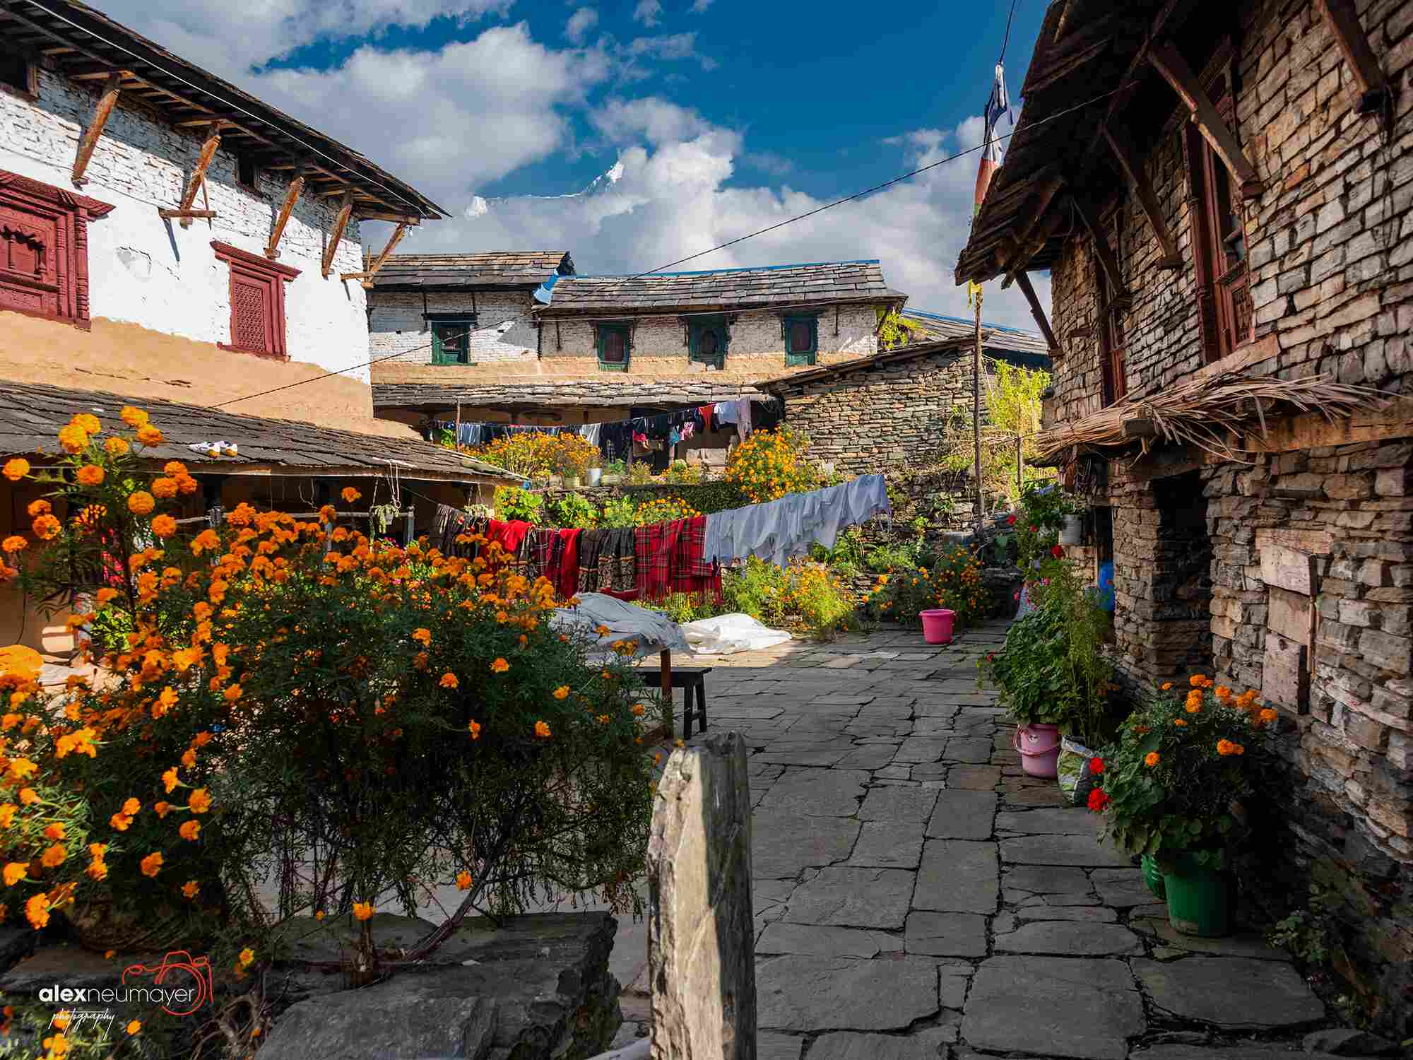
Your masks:
<path fill-rule="evenodd" d="M 473 383 L 373 383 L 374 408 L 451 410 L 462 406 L 478 408 L 606 408 L 639 406 L 650 408 L 690 408 L 739 397 L 764 397 L 750 386 L 719 383 L 695 377 L 650 380 L 572 379 L 562 383 L 516 382 Z"/>

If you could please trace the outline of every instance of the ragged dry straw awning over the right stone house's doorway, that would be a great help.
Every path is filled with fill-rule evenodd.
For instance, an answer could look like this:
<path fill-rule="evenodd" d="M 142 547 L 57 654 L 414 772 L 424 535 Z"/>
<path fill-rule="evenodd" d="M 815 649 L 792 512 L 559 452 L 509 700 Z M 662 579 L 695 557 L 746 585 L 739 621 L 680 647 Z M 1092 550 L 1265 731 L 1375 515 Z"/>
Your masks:
<path fill-rule="evenodd" d="M 1331 382 L 1327 375 L 1273 379 L 1228 372 L 1190 380 L 1149 397 L 1125 399 L 1072 423 L 1041 431 L 1036 448 L 1041 459 L 1065 449 L 1078 452 L 1137 449 L 1146 455 L 1169 442 L 1195 445 L 1222 461 L 1251 464 L 1238 441 L 1246 431 L 1262 437 L 1277 418 L 1317 413 L 1334 421 L 1361 408 L 1382 408 L 1386 394 L 1366 386 Z"/>

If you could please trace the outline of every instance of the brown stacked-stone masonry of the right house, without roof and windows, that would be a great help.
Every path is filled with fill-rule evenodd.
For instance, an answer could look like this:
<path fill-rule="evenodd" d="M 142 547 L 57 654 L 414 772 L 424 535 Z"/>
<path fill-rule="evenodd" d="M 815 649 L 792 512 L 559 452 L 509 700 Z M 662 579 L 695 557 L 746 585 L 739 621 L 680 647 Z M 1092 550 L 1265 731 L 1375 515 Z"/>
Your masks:
<path fill-rule="evenodd" d="M 1253 336 L 1241 370 L 1328 373 L 1385 393 L 1413 393 L 1413 0 L 1356 0 L 1361 24 L 1397 89 L 1392 134 L 1355 112 L 1356 89 L 1311 0 L 1260 0 L 1235 13 L 1236 134 L 1265 182 L 1241 204 Z M 1215 31 L 1212 40 L 1215 41 Z M 1191 55 L 1194 68 L 1204 57 Z M 1130 397 L 1205 365 L 1193 271 L 1183 129 L 1174 98 L 1143 168 L 1181 266 L 1160 271 L 1157 242 L 1123 192 L 1116 253 L 1133 305 L 1125 317 Z M 1116 187 L 1118 192 L 1119 188 Z M 1044 424 L 1102 404 L 1092 242 L 1072 236 L 1051 274 L 1053 321 L 1064 348 Z M 1078 334 L 1077 334 L 1078 332 Z M 1397 431 L 1393 431 L 1396 435 Z M 1186 461 L 1186 462 L 1184 462 Z M 1267 622 L 1283 603 L 1262 557 L 1313 557 L 1317 632 L 1304 677 L 1307 712 L 1277 704 L 1287 770 L 1273 783 L 1277 842 L 1253 893 L 1303 905 L 1306 883 L 1338 895 L 1335 967 L 1386 1027 L 1406 1035 L 1413 1012 L 1413 442 L 1392 437 L 1256 455 L 1252 465 L 1160 454 L 1109 464 L 1116 633 L 1132 684 L 1180 676 L 1210 660 L 1219 680 L 1270 695 Z M 1169 476 L 1200 475 L 1211 548 L 1207 584 L 1164 577 L 1176 553 Z M 1178 534 L 1177 537 L 1181 537 Z M 1178 585 L 1187 594 L 1181 599 Z M 1210 594 L 1210 619 L 1166 620 Z M 1282 644 L 1283 642 L 1275 642 Z M 1287 644 L 1287 647 L 1290 647 Z M 1296 646 L 1299 647 L 1299 646 Z"/>

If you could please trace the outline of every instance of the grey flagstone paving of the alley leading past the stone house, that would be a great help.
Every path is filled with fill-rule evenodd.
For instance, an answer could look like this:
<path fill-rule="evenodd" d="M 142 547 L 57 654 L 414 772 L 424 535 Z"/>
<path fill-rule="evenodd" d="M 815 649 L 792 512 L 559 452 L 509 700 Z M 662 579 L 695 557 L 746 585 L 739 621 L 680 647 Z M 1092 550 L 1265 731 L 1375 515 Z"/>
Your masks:
<path fill-rule="evenodd" d="M 1024 776 L 976 687 L 1003 636 L 712 663 L 711 725 L 750 752 L 762 1060 L 1267 1060 L 1330 1026 L 1284 951 L 1173 933 L 1098 818 Z"/>

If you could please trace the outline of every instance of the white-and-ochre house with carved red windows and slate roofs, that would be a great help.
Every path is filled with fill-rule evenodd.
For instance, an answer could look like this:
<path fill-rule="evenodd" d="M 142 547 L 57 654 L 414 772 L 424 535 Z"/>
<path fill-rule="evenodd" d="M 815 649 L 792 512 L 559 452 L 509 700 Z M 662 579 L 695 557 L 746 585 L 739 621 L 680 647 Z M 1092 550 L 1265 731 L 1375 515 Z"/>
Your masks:
<path fill-rule="evenodd" d="M 0 0 L 0 461 L 42 464 L 48 427 L 134 404 L 181 440 L 161 455 L 203 483 L 194 517 L 308 507 L 346 481 L 369 495 L 390 461 L 458 503 L 507 478 L 373 417 L 359 222 L 441 215 L 85 4 Z M 215 441 L 239 455 L 189 448 Z M 0 482 L 0 536 L 28 531 L 40 492 Z M 8 582 L 13 639 L 69 642 Z"/>

